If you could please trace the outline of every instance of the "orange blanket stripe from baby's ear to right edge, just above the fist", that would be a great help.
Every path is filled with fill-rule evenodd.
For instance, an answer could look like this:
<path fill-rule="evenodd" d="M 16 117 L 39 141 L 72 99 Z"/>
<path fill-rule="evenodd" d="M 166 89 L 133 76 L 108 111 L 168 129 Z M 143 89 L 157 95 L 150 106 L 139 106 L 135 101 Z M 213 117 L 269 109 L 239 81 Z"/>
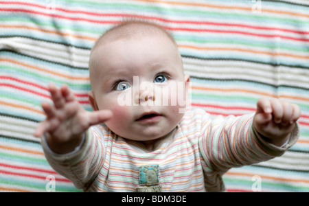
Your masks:
<path fill-rule="evenodd" d="M 265 95 L 271 98 L 287 98 L 287 99 L 293 99 L 293 100 L 296 99 L 296 100 L 309 101 L 309 98 L 301 98 L 301 97 L 290 96 L 290 95 L 271 95 L 269 93 L 253 91 L 249 89 L 220 89 L 220 88 L 208 88 L 208 87 L 196 87 L 196 86 L 192 86 L 192 89 L 198 89 L 198 90 L 204 90 L 204 91 L 224 91 L 224 92 L 236 91 L 236 92 L 255 93 L 259 95 Z"/>

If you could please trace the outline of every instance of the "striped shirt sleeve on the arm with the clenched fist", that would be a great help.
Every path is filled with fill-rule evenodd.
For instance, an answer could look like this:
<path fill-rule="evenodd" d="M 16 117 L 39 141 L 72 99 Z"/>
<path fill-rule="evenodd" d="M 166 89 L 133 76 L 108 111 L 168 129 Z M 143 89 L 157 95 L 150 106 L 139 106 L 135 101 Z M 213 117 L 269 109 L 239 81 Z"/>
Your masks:
<path fill-rule="evenodd" d="M 298 125 L 283 147 L 264 140 L 252 126 L 253 115 L 205 119 L 200 148 L 207 168 L 224 173 L 230 168 L 267 161 L 284 154 L 298 139 Z"/>

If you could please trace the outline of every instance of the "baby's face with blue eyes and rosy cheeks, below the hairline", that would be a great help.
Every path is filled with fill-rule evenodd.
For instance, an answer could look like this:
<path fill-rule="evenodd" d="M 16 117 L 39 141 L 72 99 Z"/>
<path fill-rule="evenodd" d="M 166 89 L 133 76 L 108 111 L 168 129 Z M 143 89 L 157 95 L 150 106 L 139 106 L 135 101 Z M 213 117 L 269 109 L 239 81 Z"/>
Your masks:
<path fill-rule="evenodd" d="M 90 100 L 109 109 L 105 122 L 126 139 L 168 135 L 183 117 L 186 84 L 181 56 L 169 38 L 143 36 L 104 43 L 93 52 Z M 176 100 L 176 101 L 175 101 Z"/>

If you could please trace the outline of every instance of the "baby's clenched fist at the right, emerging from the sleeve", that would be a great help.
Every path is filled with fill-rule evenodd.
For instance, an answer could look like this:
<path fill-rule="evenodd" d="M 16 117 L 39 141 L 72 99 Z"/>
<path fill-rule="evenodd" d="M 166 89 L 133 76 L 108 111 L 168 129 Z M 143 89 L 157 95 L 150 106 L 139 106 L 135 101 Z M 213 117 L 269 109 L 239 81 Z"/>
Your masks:
<path fill-rule="evenodd" d="M 298 105 L 279 99 L 258 100 L 258 108 L 253 117 L 253 127 L 275 146 L 282 146 L 295 128 L 301 115 Z"/>

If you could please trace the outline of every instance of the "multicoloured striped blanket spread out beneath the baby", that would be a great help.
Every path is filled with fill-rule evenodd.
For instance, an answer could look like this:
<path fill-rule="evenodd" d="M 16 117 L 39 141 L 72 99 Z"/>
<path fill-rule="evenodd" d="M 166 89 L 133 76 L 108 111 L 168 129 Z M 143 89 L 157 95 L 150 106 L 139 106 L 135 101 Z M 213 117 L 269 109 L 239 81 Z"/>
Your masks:
<path fill-rule="evenodd" d="M 47 163 L 33 137 L 47 84 L 68 84 L 91 110 L 95 40 L 124 19 L 165 27 L 192 81 L 192 106 L 253 113 L 261 97 L 298 104 L 300 138 L 282 157 L 233 168 L 228 192 L 309 192 L 307 0 L 0 0 L 0 191 L 80 192 Z"/>

